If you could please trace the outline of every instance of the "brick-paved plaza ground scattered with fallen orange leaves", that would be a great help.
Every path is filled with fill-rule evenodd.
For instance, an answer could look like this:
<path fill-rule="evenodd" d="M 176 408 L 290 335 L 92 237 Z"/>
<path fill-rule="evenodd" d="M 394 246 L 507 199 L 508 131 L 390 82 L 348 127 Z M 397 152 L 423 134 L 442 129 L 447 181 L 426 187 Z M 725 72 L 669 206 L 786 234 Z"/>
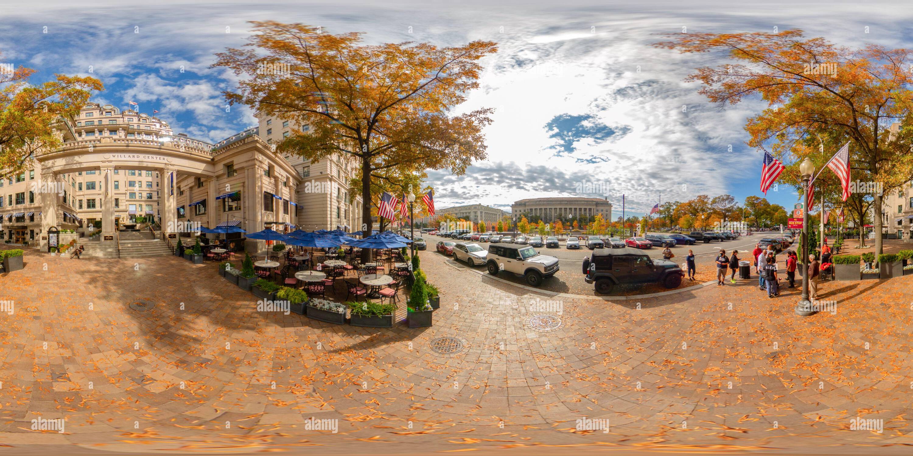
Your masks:
<path fill-rule="evenodd" d="M 26 268 L 0 278 L 15 304 L 0 314 L 0 453 L 913 445 L 909 277 L 823 285 L 836 313 L 803 318 L 797 292 L 768 299 L 754 281 L 555 302 L 433 252 L 422 260 L 443 290 L 435 326 L 390 330 L 257 312 L 214 264 L 26 250 Z M 437 337 L 456 351 L 433 351 Z M 310 430 L 310 418 L 338 429 Z M 884 430 L 851 430 L 854 418 Z M 57 419 L 64 432 L 31 429 Z M 609 429 L 578 430 L 582 419 Z"/>

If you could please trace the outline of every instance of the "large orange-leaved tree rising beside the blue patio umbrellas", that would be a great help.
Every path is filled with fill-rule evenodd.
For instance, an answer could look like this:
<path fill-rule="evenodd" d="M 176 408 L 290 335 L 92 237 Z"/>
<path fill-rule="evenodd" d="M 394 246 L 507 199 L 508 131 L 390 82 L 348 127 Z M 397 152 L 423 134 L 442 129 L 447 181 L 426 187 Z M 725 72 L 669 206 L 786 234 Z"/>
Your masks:
<path fill-rule="evenodd" d="M 372 46 L 360 44 L 359 33 L 332 35 L 276 21 L 252 24 L 247 47 L 254 48 L 217 54 L 215 67 L 244 77 L 226 99 L 310 127 L 279 142 L 278 151 L 311 161 L 337 153 L 357 159 L 366 227 L 372 223 L 371 182 L 383 171 L 425 177 L 425 170 L 448 168 L 462 174 L 473 160 L 486 158 L 482 129 L 492 110 L 452 111 L 478 87 L 478 61 L 497 50 L 495 43 Z M 367 257 L 368 249 L 364 252 Z"/>

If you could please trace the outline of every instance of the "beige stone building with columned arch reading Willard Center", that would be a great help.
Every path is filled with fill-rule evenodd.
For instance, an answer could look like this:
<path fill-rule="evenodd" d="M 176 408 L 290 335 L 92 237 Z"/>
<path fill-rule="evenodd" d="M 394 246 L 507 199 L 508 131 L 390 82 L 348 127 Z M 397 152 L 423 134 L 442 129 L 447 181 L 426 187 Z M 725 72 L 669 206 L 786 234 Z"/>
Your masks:
<path fill-rule="evenodd" d="M 47 251 L 51 227 L 97 224 L 101 243 L 116 244 L 122 225 L 137 217 L 161 225 L 152 235 L 176 242 L 176 233 L 193 232 L 197 223 L 240 226 L 247 233 L 269 227 L 290 231 L 298 225 L 312 231 L 350 226 L 361 215 L 353 210 L 361 201 L 344 206 L 348 193 L 331 184 L 312 183 L 310 191 L 319 189 L 319 195 L 303 192 L 305 179 L 311 181 L 309 165 L 317 165 L 326 181 L 339 171 L 335 183 L 346 168 L 338 170 L 330 159 L 299 160 L 296 168 L 258 127 L 211 144 L 174 134 L 163 119 L 97 103 L 54 127 L 62 146 L 37 152 L 26 171 L 0 182 L 4 241 Z M 307 209 L 299 204 L 305 197 L 315 200 Z M 337 207 L 342 216 L 335 216 Z M 262 244 L 250 241 L 247 250 Z"/>

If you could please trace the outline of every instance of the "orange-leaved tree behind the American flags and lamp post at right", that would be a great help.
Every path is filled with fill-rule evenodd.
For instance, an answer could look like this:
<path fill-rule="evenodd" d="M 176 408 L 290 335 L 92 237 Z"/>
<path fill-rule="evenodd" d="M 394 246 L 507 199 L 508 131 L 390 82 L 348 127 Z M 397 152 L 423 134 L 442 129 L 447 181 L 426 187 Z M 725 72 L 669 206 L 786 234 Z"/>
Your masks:
<path fill-rule="evenodd" d="M 805 38 L 801 30 L 667 36 L 673 40 L 654 46 L 683 53 L 726 51 L 736 61 L 697 68 L 686 78 L 703 83 L 700 93 L 711 101 L 725 105 L 757 97 L 768 102 L 768 109 L 748 119 L 745 130 L 750 147 L 768 146 L 784 163 L 792 163 L 780 181 L 799 187 L 796 164 L 810 157 L 820 170 L 845 140 L 850 142 L 850 168 L 882 182 L 885 192 L 913 179 L 913 51 L 838 47 L 822 37 Z M 829 143 L 823 157 L 810 156 L 809 142 L 818 135 L 840 141 Z M 873 218 L 881 233 L 882 194 L 874 197 Z M 875 238 L 880 254 L 881 236 Z"/>

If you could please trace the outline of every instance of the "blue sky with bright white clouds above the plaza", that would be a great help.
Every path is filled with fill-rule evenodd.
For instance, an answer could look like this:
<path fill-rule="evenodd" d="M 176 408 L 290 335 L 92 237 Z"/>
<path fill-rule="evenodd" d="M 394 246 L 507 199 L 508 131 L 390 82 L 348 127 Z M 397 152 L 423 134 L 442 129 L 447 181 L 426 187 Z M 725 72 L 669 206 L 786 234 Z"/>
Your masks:
<path fill-rule="evenodd" d="M 458 5 L 457 5 L 458 4 Z M 255 124 L 226 110 L 236 79 L 210 68 L 214 53 L 243 45 L 249 20 L 276 19 L 360 31 L 370 43 L 476 39 L 498 42 L 481 88 L 456 110 L 497 109 L 488 160 L 466 175 L 430 171 L 438 207 L 480 202 L 509 210 L 540 196 L 607 197 L 621 213 L 662 202 L 758 194 L 761 152 L 745 146 L 745 119 L 763 105 L 720 110 L 682 79 L 721 56 L 681 56 L 649 44 L 656 34 L 800 28 L 859 47 L 910 47 L 907 2 L 281 2 L 144 3 L 56 0 L 0 5 L 0 60 L 100 78 L 93 101 L 140 103 L 177 132 L 215 142 Z M 685 27 L 685 28 L 683 28 Z M 731 151 L 730 151 L 731 150 Z M 582 193 L 586 183 L 595 192 Z M 769 192 L 791 205 L 792 189 Z"/>

